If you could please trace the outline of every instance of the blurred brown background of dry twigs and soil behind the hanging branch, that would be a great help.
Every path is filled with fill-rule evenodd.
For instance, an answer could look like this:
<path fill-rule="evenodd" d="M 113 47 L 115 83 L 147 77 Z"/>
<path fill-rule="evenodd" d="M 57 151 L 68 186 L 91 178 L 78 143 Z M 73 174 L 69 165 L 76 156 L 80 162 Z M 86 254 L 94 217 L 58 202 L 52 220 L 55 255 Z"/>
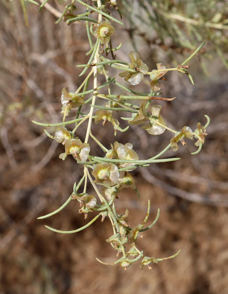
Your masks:
<path fill-rule="evenodd" d="M 92 5 L 92 2 L 87 1 Z M 138 248 L 144 255 L 162 258 L 176 253 L 178 257 L 142 270 L 134 263 L 126 272 L 118 265 L 107 266 L 95 257 L 113 262 L 116 251 L 105 240 L 112 235 L 108 219 L 93 223 L 76 234 L 62 235 L 44 227 L 74 230 L 91 220 L 78 214 L 78 202 L 71 201 L 61 212 L 45 220 L 36 218 L 54 211 L 72 193 L 82 167 L 73 157 L 59 159 L 62 144 L 52 141 L 43 127 L 31 121 L 57 123 L 61 90 L 76 91 L 85 76 L 77 64 L 85 64 L 89 44 L 84 22 L 68 26 L 55 24 L 64 10 L 49 0 L 41 12 L 38 6 L 25 3 L 28 27 L 21 2 L 0 2 L 0 119 L 1 119 L 1 203 L 0 203 L 0 293 L 6 294 L 73 294 L 73 293 L 144 293 L 144 294 L 225 294 L 228 289 L 228 2 L 227 1 L 106 1 L 106 9 L 125 26 L 113 23 L 116 31 L 113 47 L 122 42 L 116 59 L 130 61 L 128 53 L 136 50 L 150 70 L 161 62 L 166 67 L 181 64 L 202 41 L 200 54 L 190 60 L 188 76 L 177 72 L 166 74 L 161 81 L 162 97 L 172 102 L 162 105 L 162 117 L 171 128 L 181 130 L 197 123 L 205 125 L 204 114 L 211 118 L 208 136 L 201 152 L 192 141 L 165 157 L 181 157 L 171 163 L 152 164 L 133 171 L 141 198 L 129 189 L 116 200 L 118 213 L 129 213 L 131 227 L 142 222 L 148 199 L 152 222 L 156 211 L 158 222 L 144 233 Z M 85 8 L 76 4 L 76 14 Z M 96 19 L 95 13 L 91 17 Z M 92 37 L 93 38 L 93 37 Z M 93 42 L 95 38 L 92 39 Z M 111 56 L 108 56 L 111 59 Z M 110 69 L 110 76 L 129 86 Z M 99 83 L 105 82 L 99 76 Z M 148 77 L 135 91 L 149 92 Z M 89 84 L 89 89 L 93 86 Z M 126 94 L 111 87 L 116 95 Z M 101 101 L 99 101 L 101 103 Z M 74 119 L 74 109 L 70 119 Z M 120 119 L 121 128 L 127 122 Z M 73 128 L 74 126 L 72 126 Z M 77 134 L 83 140 L 86 125 Z M 114 137 L 111 124 L 93 126 L 93 134 L 110 148 L 110 142 L 132 143 L 139 158 L 147 159 L 169 144 L 173 136 L 166 131 L 151 136 L 140 126 L 130 126 L 126 133 Z M 55 128 L 47 128 L 54 135 Z M 92 144 L 92 141 L 90 141 Z M 91 146 L 91 154 L 103 156 Z M 93 193 L 88 184 L 88 193 Z"/>

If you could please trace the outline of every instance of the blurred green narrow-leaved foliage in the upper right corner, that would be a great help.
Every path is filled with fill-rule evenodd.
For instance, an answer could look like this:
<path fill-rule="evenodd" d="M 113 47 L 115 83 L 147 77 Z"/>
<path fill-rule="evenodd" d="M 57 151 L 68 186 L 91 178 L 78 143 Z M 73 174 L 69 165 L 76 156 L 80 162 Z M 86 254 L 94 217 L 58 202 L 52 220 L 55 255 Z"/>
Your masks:
<path fill-rule="evenodd" d="M 177 54 L 194 50 L 199 42 L 207 41 L 201 66 L 205 69 L 205 59 L 211 60 L 216 52 L 228 70 L 227 1 L 123 0 L 121 3 L 135 48 L 138 48 L 135 36 L 140 36 L 149 48 L 163 49 L 175 60 Z"/>

